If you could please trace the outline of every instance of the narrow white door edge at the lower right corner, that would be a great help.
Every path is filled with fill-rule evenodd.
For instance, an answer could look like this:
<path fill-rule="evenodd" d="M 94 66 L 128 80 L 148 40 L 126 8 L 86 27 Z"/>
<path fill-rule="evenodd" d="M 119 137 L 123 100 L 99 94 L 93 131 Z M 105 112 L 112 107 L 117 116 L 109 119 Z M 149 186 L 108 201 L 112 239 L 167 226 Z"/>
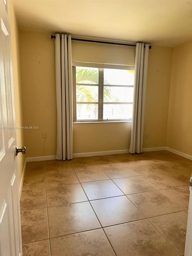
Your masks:
<path fill-rule="evenodd" d="M 185 241 L 185 256 L 192 256 L 192 178 L 190 178 L 189 211 L 187 220 L 187 234 Z"/>

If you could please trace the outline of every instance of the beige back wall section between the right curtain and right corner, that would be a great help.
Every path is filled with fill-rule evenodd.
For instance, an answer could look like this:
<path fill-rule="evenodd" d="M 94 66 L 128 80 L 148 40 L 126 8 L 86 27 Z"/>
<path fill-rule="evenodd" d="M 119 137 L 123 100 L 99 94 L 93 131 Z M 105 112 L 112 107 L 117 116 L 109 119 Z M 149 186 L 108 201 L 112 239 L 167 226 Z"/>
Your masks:
<path fill-rule="evenodd" d="M 166 146 L 172 55 L 170 47 L 149 50 L 143 148 Z"/>

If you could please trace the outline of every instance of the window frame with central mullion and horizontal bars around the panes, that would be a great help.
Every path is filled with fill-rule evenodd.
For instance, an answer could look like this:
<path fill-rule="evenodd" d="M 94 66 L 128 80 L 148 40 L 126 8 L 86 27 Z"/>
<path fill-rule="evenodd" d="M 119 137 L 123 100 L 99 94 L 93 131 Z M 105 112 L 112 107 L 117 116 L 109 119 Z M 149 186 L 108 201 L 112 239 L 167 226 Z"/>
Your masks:
<path fill-rule="evenodd" d="M 88 86 L 98 86 L 98 102 L 78 102 L 79 104 L 98 104 L 98 119 L 76 119 L 76 66 L 87 67 L 87 68 L 98 68 L 98 84 L 87 84 Z M 133 102 L 103 102 L 103 91 L 104 86 L 111 87 L 134 87 L 134 85 L 107 85 L 104 84 L 104 68 L 111 69 L 125 69 L 134 70 L 134 66 L 127 65 L 109 65 L 109 64 L 99 64 L 99 63 L 86 63 L 86 62 L 73 62 L 73 122 L 119 122 L 119 121 L 132 121 L 132 119 L 103 119 L 103 104 L 133 104 Z M 86 85 L 86 84 L 83 84 Z"/>

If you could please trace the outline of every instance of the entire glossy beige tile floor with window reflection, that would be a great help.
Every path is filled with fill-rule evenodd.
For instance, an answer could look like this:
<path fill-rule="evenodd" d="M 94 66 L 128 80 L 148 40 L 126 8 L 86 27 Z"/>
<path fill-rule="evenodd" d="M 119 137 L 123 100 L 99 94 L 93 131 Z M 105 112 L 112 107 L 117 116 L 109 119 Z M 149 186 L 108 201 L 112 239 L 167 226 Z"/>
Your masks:
<path fill-rule="evenodd" d="M 27 163 L 23 256 L 184 255 L 191 170 L 168 151 Z"/>

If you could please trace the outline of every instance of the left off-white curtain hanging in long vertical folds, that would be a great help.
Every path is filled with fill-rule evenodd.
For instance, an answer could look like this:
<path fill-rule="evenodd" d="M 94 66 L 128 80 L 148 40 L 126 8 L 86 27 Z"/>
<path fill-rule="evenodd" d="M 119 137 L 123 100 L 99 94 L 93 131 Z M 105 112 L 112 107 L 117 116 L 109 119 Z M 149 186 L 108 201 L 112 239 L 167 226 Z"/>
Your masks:
<path fill-rule="evenodd" d="M 57 152 L 59 160 L 73 158 L 73 97 L 71 36 L 55 35 Z"/>

